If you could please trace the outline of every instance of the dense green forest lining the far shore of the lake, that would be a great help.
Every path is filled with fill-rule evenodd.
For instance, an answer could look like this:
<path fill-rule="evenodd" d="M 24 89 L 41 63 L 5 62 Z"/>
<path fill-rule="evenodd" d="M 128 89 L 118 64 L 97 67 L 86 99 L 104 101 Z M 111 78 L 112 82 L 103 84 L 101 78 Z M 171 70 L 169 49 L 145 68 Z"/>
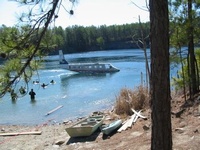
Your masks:
<path fill-rule="evenodd" d="M 17 41 L 20 40 L 19 37 L 30 31 L 30 27 L 28 25 L 21 28 L 0 26 L 2 43 L 8 47 L 17 44 Z M 142 36 L 145 38 L 147 47 L 149 47 L 149 32 L 149 22 L 111 26 L 101 25 L 99 27 L 75 25 L 65 29 L 59 26 L 47 30 L 40 44 L 40 49 L 42 53 L 50 55 L 58 54 L 57 50 L 60 49 L 65 54 L 97 50 L 134 49 L 138 48 L 136 42 L 141 44 Z M 11 43 L 12 40 L 16 40 L 16 43 Z M 35 44 L 37 40 L 38 35 L 33 34 L 26 44 Z"/>

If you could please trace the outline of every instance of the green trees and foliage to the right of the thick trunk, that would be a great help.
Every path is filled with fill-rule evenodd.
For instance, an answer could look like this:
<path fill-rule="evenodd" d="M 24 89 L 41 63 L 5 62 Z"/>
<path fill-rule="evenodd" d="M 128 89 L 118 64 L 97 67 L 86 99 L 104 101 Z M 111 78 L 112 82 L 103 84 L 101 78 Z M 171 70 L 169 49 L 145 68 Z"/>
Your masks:
<path fill-rule="evenodd" d="M 169 6 L 170 45 L 174 48 L 171 60 L 174 64 L 182 66 L 181 70 L 177 72 L 177 78 L 172 80 L 173 85 L 175 85 L 176 90 L 190 86 L 197 91 L 199 86 L 197 85 L 200 65 L 199 52 L 196 50 L 194 56 L 193 51 L 194 45 L 198 46 L 199 44 L 199 1 L 171 0 Z M 181 50 L 184 46 L 188 47 L 185 54 Z M 195 59 L 197 64 L 194 63 Z M 190 68 L 189 71 L 188 68 Z"/>

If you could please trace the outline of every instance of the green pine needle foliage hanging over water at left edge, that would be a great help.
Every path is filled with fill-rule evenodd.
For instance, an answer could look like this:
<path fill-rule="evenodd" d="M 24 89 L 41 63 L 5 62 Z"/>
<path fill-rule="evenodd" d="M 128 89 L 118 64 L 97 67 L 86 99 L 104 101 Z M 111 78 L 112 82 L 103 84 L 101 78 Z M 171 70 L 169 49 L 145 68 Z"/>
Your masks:
<path fill-rule="evenodd" d="M 30 58 L 34 50 L 34 38 L 29 39 L 29 43 L 25 40 L 27 28 L 1 28 L 0 50 L 5 54 L 6 58 L 0 67 L 0 93 L 3 96 L 10 88 L 15 88 L 18 80 L 28 83 L 31 79 L 32 72 L 38 66 L 33 61 L 24 68 L 26 59 Z M 33 36 L 34 37 L 34 36 Z M 26 41 L 26 42 L 25 42 Z"/>

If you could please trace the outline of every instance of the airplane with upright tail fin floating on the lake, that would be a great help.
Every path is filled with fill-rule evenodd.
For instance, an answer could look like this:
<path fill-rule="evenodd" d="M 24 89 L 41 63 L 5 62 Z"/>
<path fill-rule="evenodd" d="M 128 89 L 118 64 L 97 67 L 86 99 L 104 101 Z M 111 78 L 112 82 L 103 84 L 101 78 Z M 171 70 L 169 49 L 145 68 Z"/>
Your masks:
<path fill-rule="evenodd" d="M 120 71 L 110 63 L 68 63 L 63 55 L 62 50 L 59 50 L 59 62 L 63 69 L 81 73 L 112 73 Z"/>

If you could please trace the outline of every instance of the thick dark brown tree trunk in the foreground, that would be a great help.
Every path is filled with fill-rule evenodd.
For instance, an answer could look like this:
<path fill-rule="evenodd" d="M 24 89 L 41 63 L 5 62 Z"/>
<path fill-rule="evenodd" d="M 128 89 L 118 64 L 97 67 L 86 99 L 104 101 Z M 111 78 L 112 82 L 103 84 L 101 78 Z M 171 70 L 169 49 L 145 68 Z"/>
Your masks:
<path fill-rule="evenodd" d="M 150 0 L 152 150 L 171 150 L 169 17 L 167 0 Z"/>

